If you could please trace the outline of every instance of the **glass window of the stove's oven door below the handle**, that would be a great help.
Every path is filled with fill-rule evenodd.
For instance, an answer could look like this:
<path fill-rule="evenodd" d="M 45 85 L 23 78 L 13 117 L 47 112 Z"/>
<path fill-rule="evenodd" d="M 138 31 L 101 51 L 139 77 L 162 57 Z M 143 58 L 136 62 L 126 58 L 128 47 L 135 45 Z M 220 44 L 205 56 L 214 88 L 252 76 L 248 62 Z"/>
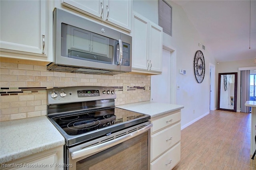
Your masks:
<path fill-rule="evenodd" d="M 148 131 L 76 162 L 77 170 L 147 170 Z"/>

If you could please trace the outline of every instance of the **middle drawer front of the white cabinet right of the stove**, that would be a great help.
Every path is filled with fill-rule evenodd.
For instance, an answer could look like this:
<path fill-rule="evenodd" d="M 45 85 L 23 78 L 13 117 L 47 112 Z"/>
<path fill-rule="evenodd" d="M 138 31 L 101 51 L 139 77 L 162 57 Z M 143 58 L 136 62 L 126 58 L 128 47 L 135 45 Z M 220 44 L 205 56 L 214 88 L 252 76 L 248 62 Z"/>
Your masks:
<path fill-rule="evenodd" d="M 180 141 L 180 123 L 172 125 L 171 127 L 152 135 L 150 160 L 153 160 L 164 151 L 171 148 L 178 141 Z"/>

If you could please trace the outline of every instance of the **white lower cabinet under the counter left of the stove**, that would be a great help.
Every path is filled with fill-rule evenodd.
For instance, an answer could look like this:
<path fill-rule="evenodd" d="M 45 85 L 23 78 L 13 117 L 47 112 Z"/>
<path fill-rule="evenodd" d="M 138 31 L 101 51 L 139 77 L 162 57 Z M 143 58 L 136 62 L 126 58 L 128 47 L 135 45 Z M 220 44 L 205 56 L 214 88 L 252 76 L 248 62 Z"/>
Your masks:
<path fill-rule="evenodd" d="M 1 170 L 63 170 L 63 146 L 26 156 L 18 160 L 2 163 Z"/>

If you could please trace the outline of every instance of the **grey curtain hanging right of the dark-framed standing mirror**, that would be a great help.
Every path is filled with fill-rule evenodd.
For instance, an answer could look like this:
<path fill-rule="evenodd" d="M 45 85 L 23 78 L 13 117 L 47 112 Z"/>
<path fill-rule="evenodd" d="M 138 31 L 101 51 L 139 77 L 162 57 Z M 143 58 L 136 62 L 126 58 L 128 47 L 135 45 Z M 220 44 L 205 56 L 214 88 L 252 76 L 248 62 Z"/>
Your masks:
<path fill-rule="evenodd" d="M 250 113 L 250 107 L 244 106 L 250 100 L 250 70 L 241 71 L 241 112 Z"/>

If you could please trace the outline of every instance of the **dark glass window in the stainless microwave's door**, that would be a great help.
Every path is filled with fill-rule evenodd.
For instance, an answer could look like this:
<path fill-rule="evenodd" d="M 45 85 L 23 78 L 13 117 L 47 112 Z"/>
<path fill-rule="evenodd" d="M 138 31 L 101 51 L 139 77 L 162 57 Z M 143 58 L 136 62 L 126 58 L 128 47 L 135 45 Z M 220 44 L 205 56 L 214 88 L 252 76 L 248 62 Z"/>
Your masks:
<path fill-rule="evenodd" d="M 112 64 L 117 40 L 61 23 L 61 56 Z"/>

